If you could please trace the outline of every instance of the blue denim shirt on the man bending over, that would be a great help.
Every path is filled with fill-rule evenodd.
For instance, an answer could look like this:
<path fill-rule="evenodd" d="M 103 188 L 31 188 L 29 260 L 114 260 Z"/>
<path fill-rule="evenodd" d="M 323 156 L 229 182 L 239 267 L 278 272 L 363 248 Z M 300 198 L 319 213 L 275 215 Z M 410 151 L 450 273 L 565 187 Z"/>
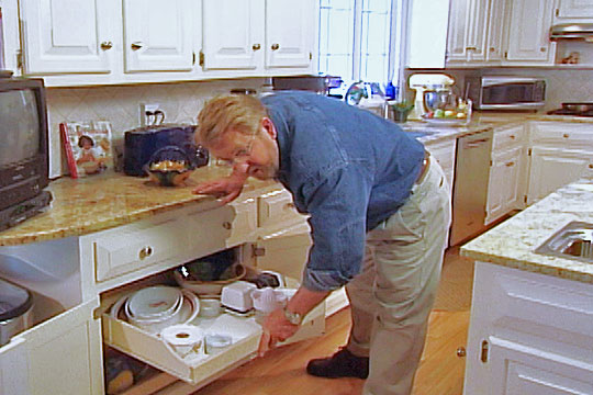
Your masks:
<path fill-rule="evenodd" d="M 366 233 L 406 201 L 422 143 L 367 110 L 311 92 L 262 99 L 278 132 L 279 181 L 310 214 L 313 246 L 302 283 L 332 291 L 361 271 Z"/>

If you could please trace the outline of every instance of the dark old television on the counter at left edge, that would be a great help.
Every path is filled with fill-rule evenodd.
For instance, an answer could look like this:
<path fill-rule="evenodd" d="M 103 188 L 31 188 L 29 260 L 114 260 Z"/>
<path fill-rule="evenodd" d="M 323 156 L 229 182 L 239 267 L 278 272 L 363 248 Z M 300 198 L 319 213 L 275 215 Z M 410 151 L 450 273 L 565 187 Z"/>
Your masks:
<path fill-rule="evenodd" d="M 0 71 L 0 229 L 37 214 L 52 200 L 42 79 Z"/>

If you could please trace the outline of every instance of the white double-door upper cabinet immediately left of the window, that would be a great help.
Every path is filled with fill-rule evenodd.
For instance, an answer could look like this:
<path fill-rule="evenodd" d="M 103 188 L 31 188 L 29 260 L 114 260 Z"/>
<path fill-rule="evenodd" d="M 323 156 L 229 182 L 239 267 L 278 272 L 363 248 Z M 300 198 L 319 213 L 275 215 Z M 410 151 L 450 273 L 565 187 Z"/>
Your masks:
<path fill-rule="evenodd" d="M 313 0 L 203 0 L 203 69 L 311 71 L 315 10 Z"/>

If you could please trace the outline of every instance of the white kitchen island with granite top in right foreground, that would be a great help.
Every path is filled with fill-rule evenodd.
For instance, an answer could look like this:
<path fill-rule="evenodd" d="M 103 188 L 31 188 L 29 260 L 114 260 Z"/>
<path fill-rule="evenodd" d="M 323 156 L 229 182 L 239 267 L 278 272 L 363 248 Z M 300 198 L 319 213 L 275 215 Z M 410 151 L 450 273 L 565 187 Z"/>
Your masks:
<path fill-rule="evenodd" d="M 593 394 L 593 263 L 536 252 L 593 224 L 581 179 L 461 247 L 475 260 L 465 394 Z"/>

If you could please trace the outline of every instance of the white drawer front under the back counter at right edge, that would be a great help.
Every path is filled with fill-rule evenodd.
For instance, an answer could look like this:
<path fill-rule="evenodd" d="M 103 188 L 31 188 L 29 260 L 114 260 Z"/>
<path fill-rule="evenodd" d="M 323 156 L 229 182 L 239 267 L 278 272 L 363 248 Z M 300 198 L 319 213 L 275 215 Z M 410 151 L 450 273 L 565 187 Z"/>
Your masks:
<path fill-rule="evenodd" d="M 530 136 L 536 143 L 591 148 L 593 147 L 593 124 L 536 123 Z"/>

